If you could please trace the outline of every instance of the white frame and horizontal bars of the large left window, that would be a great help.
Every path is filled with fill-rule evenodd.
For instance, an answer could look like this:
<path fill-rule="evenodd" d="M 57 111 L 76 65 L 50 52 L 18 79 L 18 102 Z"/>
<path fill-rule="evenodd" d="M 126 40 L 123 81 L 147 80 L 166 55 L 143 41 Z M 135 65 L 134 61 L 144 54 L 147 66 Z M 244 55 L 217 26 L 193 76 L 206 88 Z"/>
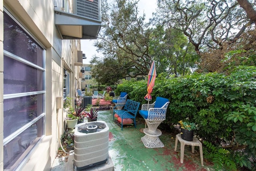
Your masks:
<path fill-rule="evenodd" d="M 22 28 L 24 30 L 24 32 L 30 36 L 30 39 L 32 39 L 34 42 L 36 42 L 38 44 L 38 46 L 42 49 L 42 67 L 38 66 L 37 64 L 33 64 L 32 62 L 29 62 L 27 60 L 25 60 L 24 58 L 21 58 L 19 56 L 16 56 L 6 50 L 3 50 L 3 54 L 4 56 L 7 56 L 8 58 L 12 58 L 18 62 L 21 62 L 23 64 L 26 64 L 27 66 L 31 66 L 35 69 L 41 70 L 42 73 L 42 91 L 28 91 L 28 92 L 24 92 L 24 93 L 10 93 L 10 94 L 4 94 L 3 95 L 3 99 L 13 99 L 16 97 L 26 97 L 29 95 L 42 95 L 42 113 L 40 115 L 38 115 L 37 117 L 35 117 L 34 119 L 32 119 L 30 122 L 26 123 L 25 125 L 23 125 L 22 127 L 19 127 L 16 131 L 14 131 L 12 134 L 8 135 L 7 137 L 5 137 L 3 139 L 3 146 L 7 145 L 10 141 L 12 141 L 13 139 L 15 139 L 16 137 L 18 137 L 18 135 L 20 135 L 21 133 L 23 133 L 24 131 L 26 131 L 29 127 L 31 127 L 34 123 L 36 123 L 37 121 L 39 121 L 40 119 L 43 119 L 43 125 L 42 125 L 42 135 L 40 137 L 37 137 L 36 139 L 34 139 L 33 141 L 35 141 L 35 144 L 32 146 L 31 149 L 29 149 L 29 151 L 24 151 L 22 153 L 22 155 L 26 155 L 26 157 L 22 158 L 22 160 L 20 161 L 20 158 L 18 158 L 17 161 L 14 162 L 13 167 L 16 167 L 16 169 L 21 168 L 29 159 L 30 155 L 32 154 L 32 152 L 36 149 L 36 147 L 38 146 L 38 144 L 42 141 L 42 139 L 45 137 L 46 135 L 46 48 L 40 43 L 38 42 L 38 40 L 36 40 L 36 36 L 34 36 L 33 34 L 31 34 L 28 29 L 20 22 L 20 20 L 18 20 L 7 8 L 4 7 L 4 12 L 6 13 L 6 15 L 8 15 L 12 20 L 14 20 L 14 22 L 16 22 L 16 24 L 18 26 L 20 26 L 20 28 Z"/>

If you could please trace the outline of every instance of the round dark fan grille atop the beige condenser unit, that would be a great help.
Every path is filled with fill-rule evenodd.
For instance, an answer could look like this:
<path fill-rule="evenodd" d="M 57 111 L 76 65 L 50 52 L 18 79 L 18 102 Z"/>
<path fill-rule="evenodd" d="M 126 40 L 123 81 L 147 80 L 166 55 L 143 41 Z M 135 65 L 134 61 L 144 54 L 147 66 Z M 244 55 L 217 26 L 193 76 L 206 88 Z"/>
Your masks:
<path fill-rule="evenodd" d="M 78 132 L 81 133 L 94 133 L 94 132 L 100 132 L 102 131 L 106 125 L 104 123 L 100 122 L 92 122 L 92 123 L 85 123 L 83 125 L 80 125 L 78 128 Z"/>

